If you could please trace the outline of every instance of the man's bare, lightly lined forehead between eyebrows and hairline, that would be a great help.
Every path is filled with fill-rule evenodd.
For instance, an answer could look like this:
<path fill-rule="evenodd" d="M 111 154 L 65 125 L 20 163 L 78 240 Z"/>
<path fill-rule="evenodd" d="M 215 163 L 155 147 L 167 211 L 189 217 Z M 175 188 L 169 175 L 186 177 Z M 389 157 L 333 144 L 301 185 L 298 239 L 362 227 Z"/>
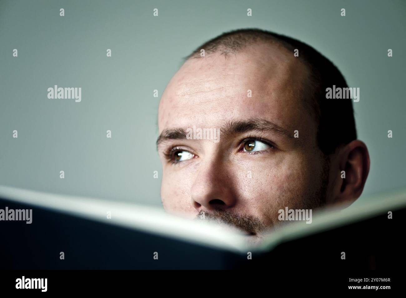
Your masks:
<path fill-rule="evenodd" d="M 214 53 L 192 58 L 162 94 L 159 130 L 218 127 L 253 117 L 286 129 L 303 127 L 303 122 L 312 122 L 302 103 L 307 77 L 298 57 L 279 45 L 255 45 L 227 57 Z"/>

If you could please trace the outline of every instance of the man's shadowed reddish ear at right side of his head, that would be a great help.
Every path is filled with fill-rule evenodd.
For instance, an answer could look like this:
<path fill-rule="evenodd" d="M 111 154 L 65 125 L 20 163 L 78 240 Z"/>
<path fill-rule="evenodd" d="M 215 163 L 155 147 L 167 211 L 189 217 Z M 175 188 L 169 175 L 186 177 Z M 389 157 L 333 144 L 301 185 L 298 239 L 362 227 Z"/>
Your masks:
<path fill-rule="evenodd" d="M 363 141 L 354 140 L 340 150 L 332 203 L 351 205 L 361 195 L 369 173 L 369 153 Z M 336 168 L 337 169 L 337 168 Z M 341 171 L 345 171 L 345 178 Z"/>

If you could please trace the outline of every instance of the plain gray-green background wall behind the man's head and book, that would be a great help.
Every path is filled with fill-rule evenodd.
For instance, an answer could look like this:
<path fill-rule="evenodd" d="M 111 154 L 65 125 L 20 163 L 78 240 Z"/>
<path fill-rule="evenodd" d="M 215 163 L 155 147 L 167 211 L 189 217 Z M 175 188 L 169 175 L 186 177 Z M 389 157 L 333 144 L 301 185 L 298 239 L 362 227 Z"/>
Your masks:
<path fill-rule="evenodd" d="M 0 184 L 160 206 L 166 84 L 203 41 L 261 28 L 312 45 L 360 88 L 356 125 L 371 156 L 360 201 L 405 187 L 405 16 L 401 0 L 1 0 Z M 81 87 L 82 101 L 48 99 L 54 85 Z"/>

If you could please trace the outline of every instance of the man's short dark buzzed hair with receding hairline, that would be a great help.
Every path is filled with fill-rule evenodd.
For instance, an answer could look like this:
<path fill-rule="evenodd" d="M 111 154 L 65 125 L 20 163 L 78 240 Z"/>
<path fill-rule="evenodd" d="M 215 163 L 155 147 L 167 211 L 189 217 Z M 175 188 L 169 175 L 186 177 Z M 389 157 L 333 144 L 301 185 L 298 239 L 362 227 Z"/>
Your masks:
<path fill-rule="evenodd" d="M 301 41 L 261 29 L 239 29 L 203 43 L 186 60 L 201 58 L 201 49 L 205 50 L 205 55 L 220 53 L 227 58 L 229 54 L 236 54 L 257 43 L 277 43 L 292 51 L 292 55 L 298 49 L 298 62 L 304 63 L 311 71 L 311 86 L 303 97 L 310 97 L 317 123 L 317 145 L 324 154 L 331 154 L 357 138 L 352 100 L 326 99 L 326 88 L 333 88 L 333 85 L 348 88 L 346 80 L 330 60 Z"/>

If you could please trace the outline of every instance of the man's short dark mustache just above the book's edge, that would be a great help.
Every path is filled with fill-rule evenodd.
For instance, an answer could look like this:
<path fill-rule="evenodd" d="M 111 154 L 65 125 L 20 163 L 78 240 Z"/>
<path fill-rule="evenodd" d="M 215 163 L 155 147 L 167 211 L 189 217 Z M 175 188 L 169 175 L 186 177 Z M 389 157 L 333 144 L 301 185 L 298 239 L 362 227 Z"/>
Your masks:
<path fill-rule="evenodd" d="M 252 215 L 235 214 L 228 210 L 201 210 L 195 220 L 209 220 L 237 227 L 248 234 L 257 234 L 266 229 L 261 220 Z"/>

